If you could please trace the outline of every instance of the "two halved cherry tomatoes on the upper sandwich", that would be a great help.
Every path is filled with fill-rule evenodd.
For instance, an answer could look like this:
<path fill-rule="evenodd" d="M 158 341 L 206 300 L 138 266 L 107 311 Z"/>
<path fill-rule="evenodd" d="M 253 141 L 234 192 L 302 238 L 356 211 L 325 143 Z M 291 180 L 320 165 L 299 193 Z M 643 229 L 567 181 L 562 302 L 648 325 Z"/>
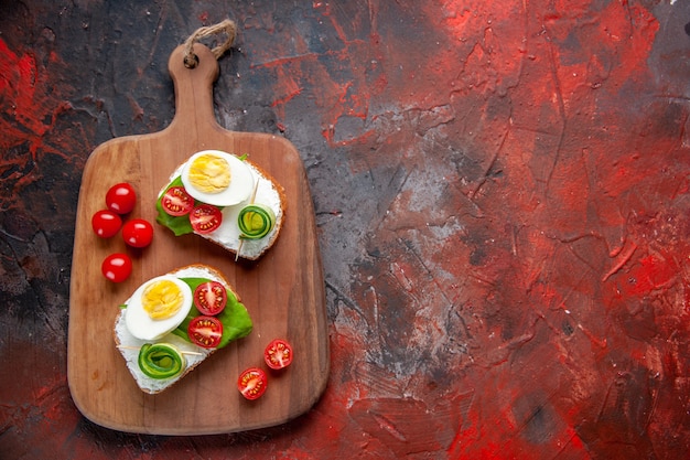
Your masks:
<path fill-rule="evenodd" d="M 161 206 L 173 217 L 187 215 L 195 233 L 206 235 L 223 223 L 223 213 L 211 204 L 196 204 L 184 186 L 171 186 L 161 197 Z"/>

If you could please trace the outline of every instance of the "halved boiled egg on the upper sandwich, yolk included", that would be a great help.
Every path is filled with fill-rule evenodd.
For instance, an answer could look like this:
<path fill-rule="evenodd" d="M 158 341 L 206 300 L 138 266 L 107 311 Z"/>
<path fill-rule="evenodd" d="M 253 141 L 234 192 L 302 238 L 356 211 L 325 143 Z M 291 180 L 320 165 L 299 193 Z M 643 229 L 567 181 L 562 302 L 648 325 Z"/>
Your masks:
<path fill-rule="evenodd" d="M 254 190 L 254 174 L 249 167 L 220 150 L 194 153 L 182 168 L 181 179 L 192 197 L 215 206 L 241 203 Z"/>

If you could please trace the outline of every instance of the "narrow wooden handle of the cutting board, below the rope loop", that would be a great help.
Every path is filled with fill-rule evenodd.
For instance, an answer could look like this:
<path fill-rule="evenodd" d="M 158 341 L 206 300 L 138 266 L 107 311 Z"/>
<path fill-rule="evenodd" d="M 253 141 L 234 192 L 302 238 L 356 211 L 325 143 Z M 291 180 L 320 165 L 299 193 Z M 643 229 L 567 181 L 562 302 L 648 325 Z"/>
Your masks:
<path fill-rule="evenodd" d="M 194 43 L 198 64 L 194 68 L 184 65 L 184 45 L 177 46 L 168 62 L 168 69 L 175 86 L 175 116 L 169 130 L 194 135 L 204 125 L 219 127 L 213 109 L 213 84 L 218 78 L 218 62 L 211 50 Z"/>

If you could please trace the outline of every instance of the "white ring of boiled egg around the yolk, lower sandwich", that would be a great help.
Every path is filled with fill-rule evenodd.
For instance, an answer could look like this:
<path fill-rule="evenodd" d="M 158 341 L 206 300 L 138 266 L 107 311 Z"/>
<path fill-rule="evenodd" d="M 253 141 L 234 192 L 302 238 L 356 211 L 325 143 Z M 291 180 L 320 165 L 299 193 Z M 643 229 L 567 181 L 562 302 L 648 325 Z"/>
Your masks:
<path fill-rule="evenodd" d="M 170 280 L 180 288 L 182 292 L 182 307 L 180 310 L 170 318 L 163 320 L 154 320 L 149 317 L 149 313 L 143 309 L 141 303 L 141 296 L 143 291 L 147 289 L 149 285 L 152 282 L 161 281 L 161 280 Z M 141 285 L 132 297 L 127 302 L 127 309 L 125 310 L 125 321 L 127 324 L 127 329 L 129 332 L 137 339 L 140 340 L 158 340 L 179 327 L 182 321 L 184 321 L 185 317 L 190 312 L 193 303 L 192 288 L 182 281 L 180 278 L 174 277 L 172 275 L 163 275 L 155 278 L 150 279 L 149 281 Z"/>

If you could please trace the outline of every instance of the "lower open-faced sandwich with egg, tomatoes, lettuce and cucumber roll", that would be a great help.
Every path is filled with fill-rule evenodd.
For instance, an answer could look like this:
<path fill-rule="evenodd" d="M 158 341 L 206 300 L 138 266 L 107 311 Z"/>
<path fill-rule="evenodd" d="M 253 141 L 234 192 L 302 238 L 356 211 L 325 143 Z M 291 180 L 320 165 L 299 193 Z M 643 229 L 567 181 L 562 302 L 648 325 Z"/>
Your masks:
<path fill-rule="evenodd" d="M 155 394 L 251 328 L 223 275 L 197 264 L 141 285 L 121 306 L 115 343 L 139 387 Z"/>

